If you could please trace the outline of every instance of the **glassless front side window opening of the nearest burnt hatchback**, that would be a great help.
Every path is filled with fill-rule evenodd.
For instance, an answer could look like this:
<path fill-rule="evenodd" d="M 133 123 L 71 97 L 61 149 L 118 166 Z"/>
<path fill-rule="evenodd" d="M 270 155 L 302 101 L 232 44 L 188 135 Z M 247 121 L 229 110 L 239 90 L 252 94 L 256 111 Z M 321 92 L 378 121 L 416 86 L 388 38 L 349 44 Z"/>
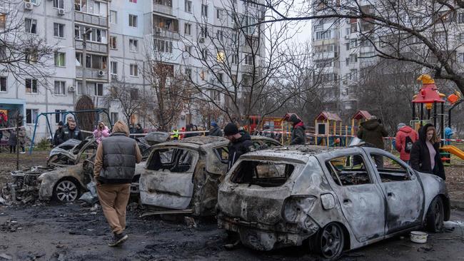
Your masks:
<path fill-rule="evenodd" d="M 382 183 L 410 180 L 408 169 L 401 165 L 398 160 L 375 153 L 370 153 L 370 157 L 375 163 Z"/>

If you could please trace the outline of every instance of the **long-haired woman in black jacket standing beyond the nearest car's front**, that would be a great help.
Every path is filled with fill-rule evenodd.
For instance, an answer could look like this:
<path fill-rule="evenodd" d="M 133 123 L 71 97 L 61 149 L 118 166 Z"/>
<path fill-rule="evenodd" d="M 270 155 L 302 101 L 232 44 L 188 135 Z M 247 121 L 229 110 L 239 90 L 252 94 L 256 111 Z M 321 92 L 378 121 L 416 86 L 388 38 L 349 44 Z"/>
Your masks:
<path fill-rule="evenodd" d="M 419 130 L 419 139 L 413 144 L 410 165 L 423 173 L 438 175 L 445 180 L 445 168 L 440 158 L 440 142 L 433 124 L 426 124 Z"/>

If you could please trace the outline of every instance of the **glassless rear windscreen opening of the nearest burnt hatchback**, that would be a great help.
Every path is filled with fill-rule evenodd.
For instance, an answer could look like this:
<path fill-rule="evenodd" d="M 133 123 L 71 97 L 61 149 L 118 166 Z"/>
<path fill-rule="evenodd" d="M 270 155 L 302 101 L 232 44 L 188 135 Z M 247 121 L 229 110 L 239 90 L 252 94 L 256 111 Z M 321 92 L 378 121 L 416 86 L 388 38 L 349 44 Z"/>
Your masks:
<path fill-rule="evenodd" d="M 233 183 L 249 183 L 264 188 L 278 187 L 286 183 L 294 165 L 272 161 L 243 160 L 231 175 Z"/>

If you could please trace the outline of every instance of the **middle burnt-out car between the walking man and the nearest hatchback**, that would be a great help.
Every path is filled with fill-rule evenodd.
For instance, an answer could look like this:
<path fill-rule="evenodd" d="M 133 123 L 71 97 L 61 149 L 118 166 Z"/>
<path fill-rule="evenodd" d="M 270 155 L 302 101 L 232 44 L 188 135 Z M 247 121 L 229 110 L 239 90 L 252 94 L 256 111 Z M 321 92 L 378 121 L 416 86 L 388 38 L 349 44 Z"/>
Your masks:
<path fill-rule="evenodd" d="M 251 140 L 256 149 L 280 146 L 271 138 Z M 228 143 L 196 136 L 154 145 L 139 180 L 141 203 L 153 210 L 146 215 L 213 215 L 218 184 L 227 172 Z"/>

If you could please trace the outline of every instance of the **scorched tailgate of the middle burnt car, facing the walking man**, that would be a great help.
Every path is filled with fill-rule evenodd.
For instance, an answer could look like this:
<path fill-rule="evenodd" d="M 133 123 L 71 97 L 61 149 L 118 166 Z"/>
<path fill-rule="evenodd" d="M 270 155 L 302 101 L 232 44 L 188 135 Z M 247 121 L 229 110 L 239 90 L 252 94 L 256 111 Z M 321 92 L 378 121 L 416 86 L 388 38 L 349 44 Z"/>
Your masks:
<path fill-rule="evenodd" d="M 193 196 L 198 151 L 164 147 L 152 151 L 139 180 L 142 204 L 185 210 Z"/>

